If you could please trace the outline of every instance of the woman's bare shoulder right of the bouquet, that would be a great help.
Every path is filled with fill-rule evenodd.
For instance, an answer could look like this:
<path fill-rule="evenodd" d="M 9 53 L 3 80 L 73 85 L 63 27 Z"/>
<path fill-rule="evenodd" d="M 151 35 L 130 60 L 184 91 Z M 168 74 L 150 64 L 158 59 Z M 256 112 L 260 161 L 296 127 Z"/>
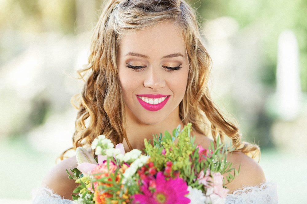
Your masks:
<path fill-rule="evenodd" d="M 266 180 L 261 166 L 252 158 L 242 152 L 232 152 L 228 155 L 227 160 L 232 163 L 232 167 L 239 169 L 237 177 L 226 187 L 230 190 L 229 193 L 239 188 L 246 186 L 256 186 Z M 233 174 L 233 172 L 231 172 Z M 225 177 L 226 175 L 224 175 Z"/>

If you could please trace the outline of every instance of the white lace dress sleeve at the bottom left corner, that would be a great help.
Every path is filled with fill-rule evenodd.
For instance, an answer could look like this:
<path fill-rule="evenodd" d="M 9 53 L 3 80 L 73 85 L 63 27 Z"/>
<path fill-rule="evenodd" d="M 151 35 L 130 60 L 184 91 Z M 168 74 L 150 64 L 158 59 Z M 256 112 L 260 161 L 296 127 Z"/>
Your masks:
<path fill-rule="evenodd" d="M 49 187 L 39 187 L 32 192 L 32 204 L 72 204 L 72 200 L 62 198 Z"/>

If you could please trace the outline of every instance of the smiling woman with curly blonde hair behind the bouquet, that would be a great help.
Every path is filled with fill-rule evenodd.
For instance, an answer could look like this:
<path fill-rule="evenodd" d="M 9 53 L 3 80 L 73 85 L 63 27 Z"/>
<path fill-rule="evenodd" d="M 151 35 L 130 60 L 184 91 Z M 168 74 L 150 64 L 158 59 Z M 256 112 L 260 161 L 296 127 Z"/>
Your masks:
<path fill-rule="evenodd" d="M 252 159 L 259 156 L 259 148 L 242 143 L 238 128 L 211 101 L 210 63 L 195 14 L 186 2 L 111 0 L 95 28 L 88 68 L 80 72 L 90 74 L 77 100 L 73 148 L 90 145 L 104 134 L 114 144 L 123 143 L 126 152 L 143 149 L 144 138 L 191 122 L 195 142 L 203 147 L 209 146 L 209 135 L 214 141 L 218 134 L 232 140 L 235 151 L 228 160 L 241 168 L 226 185 L 230 192 L 251 186 L 248 189 L 256 193 L 258 202 L 266 197 L 266 203 L 276 203 L 276 189 Z M 70 203 L 60 196 L 72 199 L 76 184 L 68 179 L 66 169 L 76 166 L 72 157 L 51 169 L 40 192 L 46 196 L 35 202 L 50 203 L 54 198 L 60 199 L 54 200 L 57 203 Z M 275 194 L 268 194 L 272 189 Z M 228 194 L 227 202 L 246 203 L 238 198 L 243 191 Z"/>

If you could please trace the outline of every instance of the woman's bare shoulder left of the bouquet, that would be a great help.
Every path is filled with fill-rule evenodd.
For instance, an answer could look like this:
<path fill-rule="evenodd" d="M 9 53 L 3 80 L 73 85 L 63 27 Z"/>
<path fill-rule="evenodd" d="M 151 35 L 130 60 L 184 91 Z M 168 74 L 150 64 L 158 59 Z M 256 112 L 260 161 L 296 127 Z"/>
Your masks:
<path fill-rule="evenodd" d="M 77 184 L 75 180 L 69 179 L 66 169 L 72 175 L 69 169 L 77 167 L 76 156 L 60 161 L 45 175 L 42 186 L 47 186 L 60 196 L 66 199 L 72 199 L 72 191 L 75 190 Z"/>

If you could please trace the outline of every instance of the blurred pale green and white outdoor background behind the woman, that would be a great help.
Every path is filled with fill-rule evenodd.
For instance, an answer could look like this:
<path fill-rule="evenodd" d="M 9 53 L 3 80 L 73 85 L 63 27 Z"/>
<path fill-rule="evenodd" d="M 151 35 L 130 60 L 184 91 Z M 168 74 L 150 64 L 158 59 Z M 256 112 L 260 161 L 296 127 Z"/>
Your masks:
<path fill-rule="evenodd" d="M 72 147 L 101 0 L 0 0 L 0 203 L 31 203 Z M 212 56 L 212 95 L 262 150 L 279 203 L 305 201 L 307 1 L 191 0 Z M 50 175 L 52 176 L 52 175 Z"/>

